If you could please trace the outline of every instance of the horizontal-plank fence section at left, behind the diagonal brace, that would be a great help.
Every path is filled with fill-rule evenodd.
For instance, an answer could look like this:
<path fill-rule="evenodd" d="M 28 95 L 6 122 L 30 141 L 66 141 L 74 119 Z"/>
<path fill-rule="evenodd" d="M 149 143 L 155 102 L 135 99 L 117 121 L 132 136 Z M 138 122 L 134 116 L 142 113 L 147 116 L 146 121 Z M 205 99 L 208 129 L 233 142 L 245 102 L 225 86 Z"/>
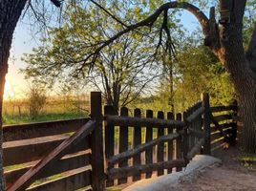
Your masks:
<path fill-rule="evenodd" d="M 88 121 L 89 118 L 79 118 L 5 126 L 3 150 L 7 187 Z M 29 190 L 55 190 L 54 187 L 65 190 L 66 182 L 74 182 L 69 185 L 74 188 L 90 184 L 90 172 L 85 167 L 90 164 L 90 158 L 89 140 L 84 139 L 60 159 L 58 165 L 53 165 L 51 170 L 39 176 Z M 56 175 L 58 179 L 46 179 Z"/>

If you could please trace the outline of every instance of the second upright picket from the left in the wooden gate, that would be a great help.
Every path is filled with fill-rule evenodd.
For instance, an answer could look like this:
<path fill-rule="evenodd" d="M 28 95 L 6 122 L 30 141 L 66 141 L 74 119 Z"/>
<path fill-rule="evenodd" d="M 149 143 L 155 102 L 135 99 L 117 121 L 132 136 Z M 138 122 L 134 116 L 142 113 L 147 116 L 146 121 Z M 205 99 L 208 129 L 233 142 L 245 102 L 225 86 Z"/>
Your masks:
<path fill-rule="evenodd" d="M 126 107 L 120 108 L 120 116 L 128 117 L 128 109 Z M 128 126 L 119 127 L 119 153 L 123 153 L 128 150 Z M 128 166 L 128 159 L 118 163 L 118 167 Z M 117 180 L 117 184 L 126 183 L 127 178 L 122 178 Z"/>

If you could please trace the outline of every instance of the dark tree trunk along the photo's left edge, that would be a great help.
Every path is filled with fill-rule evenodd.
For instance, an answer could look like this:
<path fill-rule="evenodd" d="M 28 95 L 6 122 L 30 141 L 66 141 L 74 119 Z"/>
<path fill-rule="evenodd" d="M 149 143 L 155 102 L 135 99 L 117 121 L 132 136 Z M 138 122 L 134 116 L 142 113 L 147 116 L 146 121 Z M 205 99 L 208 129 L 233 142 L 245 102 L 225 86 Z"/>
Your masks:
<path fill-rule="evenodd" d="M 0 0 L 0 190 L 5 190 L 2 150 L 2 107 L 5 76 L 8 73 L 12 35 L 26 2 L 27 0 Z"/>

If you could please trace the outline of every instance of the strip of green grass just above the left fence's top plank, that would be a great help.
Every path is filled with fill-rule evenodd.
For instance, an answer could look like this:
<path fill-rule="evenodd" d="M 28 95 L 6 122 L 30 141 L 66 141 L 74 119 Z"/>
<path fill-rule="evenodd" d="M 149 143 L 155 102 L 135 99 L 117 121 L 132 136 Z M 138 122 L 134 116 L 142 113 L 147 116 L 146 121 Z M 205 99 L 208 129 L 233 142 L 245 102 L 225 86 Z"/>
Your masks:
<path fill-rule="evenodd" d="M 29 115 L 3 115 L 4 125 L 7 124 L 22 124 L 30 122 L 43 122 L 51 120 L 61 120 L 61 119 L 71 119 L 78 117 L 88 117 L 88 115 L 83 113 L 66 112 L 66 113 L 48 113 L 41 114 L 36 119 L 32 119 Z"/>

